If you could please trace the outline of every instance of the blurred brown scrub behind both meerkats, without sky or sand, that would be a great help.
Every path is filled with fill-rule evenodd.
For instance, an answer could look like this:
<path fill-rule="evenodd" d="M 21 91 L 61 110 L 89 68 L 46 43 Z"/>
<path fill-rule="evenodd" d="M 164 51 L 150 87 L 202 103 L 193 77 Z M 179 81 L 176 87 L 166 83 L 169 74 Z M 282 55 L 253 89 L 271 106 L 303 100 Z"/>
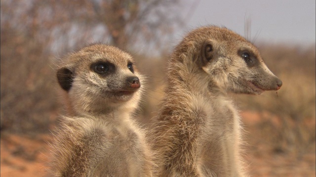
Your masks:
<path fill-rule="evenodd" d="M 147 122 L 156 114 L 165 84 L 165 51 L 171 48 L 164 40 L 184 25 L 177 13 L 180 0 L 0 3 L 1 131 L 48 132 L 62 108 L 52 61 L 91 42 L 131 51 L 137 67 L 147 75 L 142 120 Z M 258 47 L 283 86 L 277 93 L 234 95 L 241 110 L 260 114 L 261 121 L 246 129 L 261 133 L 258 141 L 275 152 L 315 150 L 315 44 Z M 139 52 L 138 48 L 155 49 L 160 57 L 148 57 L 150 52 Z"/>

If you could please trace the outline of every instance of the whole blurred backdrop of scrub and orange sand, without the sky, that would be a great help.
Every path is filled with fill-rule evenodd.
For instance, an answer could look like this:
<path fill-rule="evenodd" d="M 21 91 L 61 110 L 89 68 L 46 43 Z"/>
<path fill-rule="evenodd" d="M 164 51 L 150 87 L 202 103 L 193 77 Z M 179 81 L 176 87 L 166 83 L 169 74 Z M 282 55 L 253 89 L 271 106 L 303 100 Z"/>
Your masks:
<path fill-rule="evenodd" d="M 136 118 L 150 122 L 163 96 L 168 54 L 187 31 L 198 27 L 187 23 L 197 6 L 191 1 L 189 10 L 180 13 L 184 6 L 188 0 L 1 0 L 1 177 L 44 175 L 47 143 L 58 115 L 65 112 L 54 63 L 89 43 L 115 45 L 133 55 L 147 76 Z M 256 28 L 251 23 L 245 18 L 245 32 L 239 34 L 254 42 L 283 86 L 260 96 L 232 95 L 244 124 L 249 174 L 315 177 L 315 34 L 305 45 L 269 43 L 259 40 L 260 33 L 248 36 Z"/>

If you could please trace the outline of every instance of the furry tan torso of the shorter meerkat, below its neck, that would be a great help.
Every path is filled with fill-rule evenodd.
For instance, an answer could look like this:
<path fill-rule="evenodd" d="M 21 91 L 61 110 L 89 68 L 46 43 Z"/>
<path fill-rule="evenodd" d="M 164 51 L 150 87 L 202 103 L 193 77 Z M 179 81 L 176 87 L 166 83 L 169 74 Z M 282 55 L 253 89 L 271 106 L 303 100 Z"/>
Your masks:
<path fill-rule="evenodd" d="M 88 115 L 63 117 L 63 124 L 56 135 L 58 145 L 63 146 L 63 150 L 55 152 L 55 157 L 59 160 L 54 163 L 59 164 L 60 169 L 69 169 L 69 166 L 78 168 L 74 170 L 78 175 L 84 169 L 80 169 L 75 163 L 83 163 L 82 167 L 84 164 L 89 165 L 84 170 L 86 176 L 143 176 L 143 167 L 147 162 L 141 159 L 146 159 L 148 153 L 144 151 L 146 145 L 142 141 L 144 132 L 129 119 L 109 121 L 110 118 L 115 120 L 124 116 L 126 117 L 121 114 L 104 115 L 100 118 Z M 68 167 L 62 167 L 66 165 L 66 161 L 70 162 Z M 56 171 L 55 176 L 75 175 L 74 171 L 61 171 L 63 174 Z"/>

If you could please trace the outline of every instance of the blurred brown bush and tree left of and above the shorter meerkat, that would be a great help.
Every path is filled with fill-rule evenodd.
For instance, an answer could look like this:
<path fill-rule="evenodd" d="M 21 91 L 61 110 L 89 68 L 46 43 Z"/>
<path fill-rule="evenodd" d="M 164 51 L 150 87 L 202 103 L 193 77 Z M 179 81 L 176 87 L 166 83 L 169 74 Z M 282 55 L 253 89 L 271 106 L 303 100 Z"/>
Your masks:
<path fill-rule="evenodd" d="M 175 10 L 179 0 L 0 3 L 1 131 L 49 131 L 60 112 L 54 61 L 67 52 L 103 42 L 131 51 L 151 44 L 145 49 L 159 53 L 168 47 L 163 40 L 182 25 Z"/>

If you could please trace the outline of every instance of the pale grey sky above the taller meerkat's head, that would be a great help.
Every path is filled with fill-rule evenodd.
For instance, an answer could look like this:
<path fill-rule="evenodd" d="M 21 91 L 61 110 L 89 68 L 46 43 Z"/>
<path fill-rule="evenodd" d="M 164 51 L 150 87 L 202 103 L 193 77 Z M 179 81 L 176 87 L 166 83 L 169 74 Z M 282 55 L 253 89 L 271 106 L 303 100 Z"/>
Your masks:
<path fill-rule="evenodd" d="M 185 32 L 203 25 L 218 25 L 245 36 L 251 20 L 255 43 L 315 44 L 315 0 L 185 0 L 188 20 Z M 182 34 L 181 34 L 182 35 Z"/>

